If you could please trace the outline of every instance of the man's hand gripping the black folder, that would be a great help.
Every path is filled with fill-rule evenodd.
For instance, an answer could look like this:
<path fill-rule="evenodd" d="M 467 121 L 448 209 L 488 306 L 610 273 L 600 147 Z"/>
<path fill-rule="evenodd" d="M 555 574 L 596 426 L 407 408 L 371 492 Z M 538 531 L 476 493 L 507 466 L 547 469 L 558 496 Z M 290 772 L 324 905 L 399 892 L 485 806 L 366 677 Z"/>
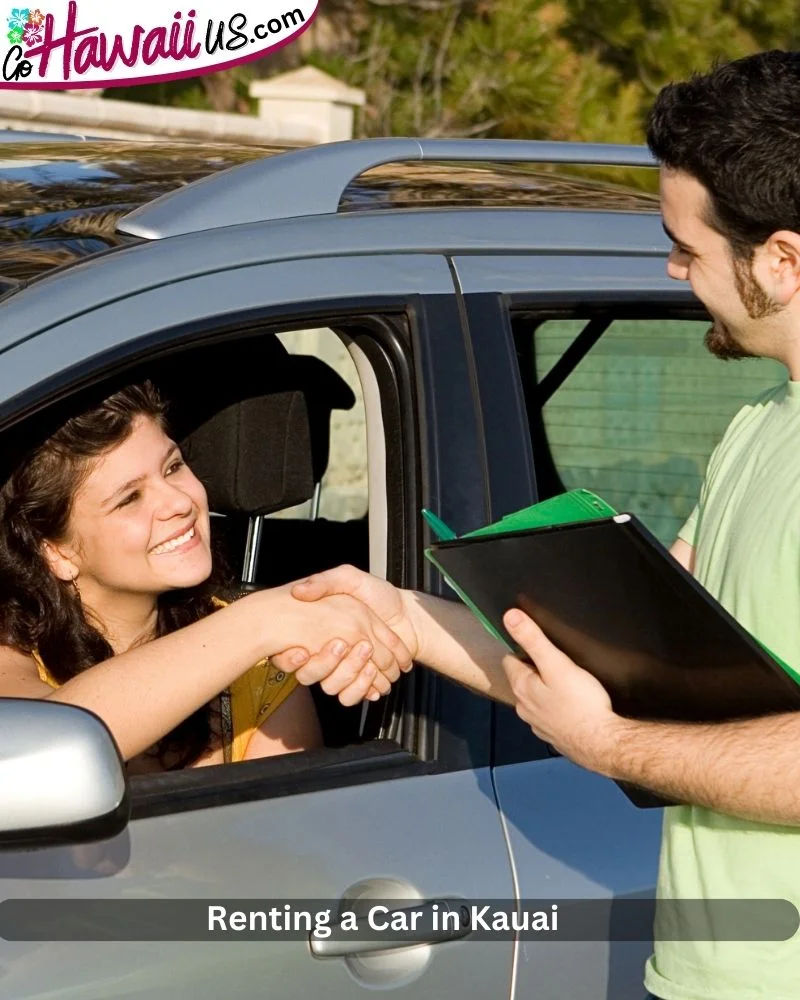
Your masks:
<path fill-rule="evenodd" d="M 506 656 L 503 669 L 517 715 L 565 757 L 608 774 L 626 720 L 616 715 L 605 688 L 557 649 L 539 626 L 517 609 L 503 619 L 509 634 L 535 666 Z"/>

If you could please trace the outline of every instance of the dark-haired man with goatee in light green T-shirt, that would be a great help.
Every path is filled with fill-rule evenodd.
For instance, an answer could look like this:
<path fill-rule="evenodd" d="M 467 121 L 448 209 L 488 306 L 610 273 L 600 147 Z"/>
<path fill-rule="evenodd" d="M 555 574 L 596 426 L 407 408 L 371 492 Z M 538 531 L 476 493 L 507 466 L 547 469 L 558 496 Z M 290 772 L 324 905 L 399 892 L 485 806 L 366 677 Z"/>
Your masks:
<path fill-rule="evenodd" d="M 775 358 L 789 381 L 745 406 L 715 450 L 673 547 L 753 634 L 800 664 L 800 53 L 765 52 L 671 84 L 648 144 L 661 165 L 668 272 L 713 317 L 722 358 Z M 719 725 L 623 719 L 603 688 L 520 611 L 505 623 L 536 669 L 469 612 L 343 568 L 296 595 L 345 591 L 416 659 L 516 704 L 578 764 L 690 803 L 665 810 L 659 893 L 800 905 L 800 713 Z M 458 639 L 453 636 L 459 636 Z M 304 668 L 305 669 L 305 668 Z M 313 663 L 308 669 L 313 674 Z M 307 680 L 305 678 L 301 678 Z M 324 682 L 335 693 L 334 671 Z M 326 689 L 328 689 L 326 688 Z M 645 985 L 664 1000 L 795 1000 L 800 944 L 660 941 Z"/>

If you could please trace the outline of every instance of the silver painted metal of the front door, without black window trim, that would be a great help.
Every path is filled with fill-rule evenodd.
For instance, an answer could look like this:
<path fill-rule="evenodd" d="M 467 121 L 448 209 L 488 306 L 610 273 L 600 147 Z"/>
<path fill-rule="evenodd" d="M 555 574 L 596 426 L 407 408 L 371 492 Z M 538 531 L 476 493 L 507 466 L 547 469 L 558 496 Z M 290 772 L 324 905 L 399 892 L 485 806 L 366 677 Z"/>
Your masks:
<path fill-rule="evenodd" d="M 48 284 L 22 294 L 47 298 Z M 444 258 L 342 256 L 229 266 L 117 298 L 29 336 L 6 352 L 0 394 L 11 412 L 23 397 L 40 398 L 48 380 L 66 385 L 81 370 L 96 375 L 112 358 L 138 356 L 155 340 L 162 348 L 174 346 L 198 327 L 224 327 L 242 313 L 254 317 L 272 310 L 291 322 L 303 310 L 313 314 L 315 301 L 326 309 L 345 303 L 352 309 L 387 296 L 398 303 L 424 302 L 421 291 L 454 311 Z M 424 322 L 417 325 L 428 339 Z M 453 350 L 447 356 L 452 360 Z M 488 718 L 488 704 L 479 707 Z M 488 728 L 482 730 L 488 741 Z M 257 766 L 266 773 L 270 762 Z M 133 808 L 135 814 L 135 783 Z M 335 904 L 354 885 L 387 879 L 399 884 L 398 895 L 513 896 L 491 773 L 479 766 L 136 819 L 124 836 L 105 844 L 24 856 L 4 852 L 0 873 L 3 897 L 236 898 L 260 900 L 254 908 L 263 908 L 276 898 Z M 377 974 L 384 987 L 410 1000 L 456 998 L 472 988 L 497 996 L 510 990 L 512 950 L 511 941 L 449 942 L 424 952 L 424 961 L 420 948 L 411 948 L 375 956 L 361 967 L 342 959 L 320 961 L 304 941 L 102 947 L 20 942 L 4 949 L 0 997 L 160 1000 L 174 993 L 216 1000 L 221 993 L 249 998 L 280 988 L 298 1000 L 318 993 L 344 998 L 374 989 L 370 976 Z"/>

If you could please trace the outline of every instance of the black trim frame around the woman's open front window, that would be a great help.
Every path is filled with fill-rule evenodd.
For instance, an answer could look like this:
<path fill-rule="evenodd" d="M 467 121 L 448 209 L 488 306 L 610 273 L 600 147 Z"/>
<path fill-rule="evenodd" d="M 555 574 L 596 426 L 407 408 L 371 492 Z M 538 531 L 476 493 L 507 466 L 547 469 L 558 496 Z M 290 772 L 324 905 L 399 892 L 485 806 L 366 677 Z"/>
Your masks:
<path fill-rule="evenodd" d="M 387 259 L 391 258 L 384 258 L 384 261 Z M 314 261 L 305 259 L 292 263 L 308 267 Z M 145 361 L 156 361 L 176 351 L 190 349 L 193 344 L 211 343 L 235 335 L 237 331 L 241 333 L 245 329 L 253 330 L 255 326 L 263 333 L 268 330 L 276 332 L 277 329 L 302 329 L 310 326 L 329 326 L 338 330 L 344 322 L 366 322 L 372 317 L 372 320 L 377 321 L 373 324 L 374 329 L 369 332 L 362 330 L 354 339 L 376 371 L 379 383 L 383 379 L 381 402 L 384 424 L 386 428 L 394 428 L 392 442 L 400 449 L 400 455 L 397 456 L 400 460 L 387 462 L 387 497 L 390 507 L 394 503 L 394 510 L 390 511 L 387 523 L 388 575 L 399 584 L 419 586 L 423 575 L 420 519 L 416 513 L 422 494 L 422 469 L 417 440 L 419 409 L 416 399 L 420 376 L 411 357 L 409 340 L 418 337 L 420 332 L 427 340 L 434 339 L 427 336 L 426 298 L 425 295 L 408 292 L 365 295 L 357 291 L 351 298 L 343 295 L 336 299 L 317 298 L 310 302 L 281 301 L 257 310 L 243 310 L 242 313 L 232 309 L 223 320 L 217 316 L 207 321 L 195 320 L 166 325 L 161 329 L 151 328 L 151 333 L 145 337 L 127 339 L 111 351 L 99 353 L 69 369 L 59 370 L 55 375 L 17 393 L 0 407 L 2 429 L 7 429 L 47 406 L 61 403 L 67 397 L 77 398 L 83 391 L 101 381 L 122 379 L 126 371 Z M 451 323 L 455 317 L 452 291 L 449 295 L 436 298 L 440 305 L 446 299 L 451 300 L 452 315 L 447 315 L 447 309 L 440 315 L 441 320 Z M 126 302 L 127 298 L 122 299 L 111 304 L 111 308 L 124 308 Z M 396 317 L 403 315 L 408 318 L 413 332 L 404 330 L 396 322 Z M 52 331 L 52 327 L 49 329 Z M 30 347 L 35 344 L 36 339 L 38 337 L 34 333 L 22 343 Z M 9 349 L 9 359 L 13 359 L 17 346 L 19 345 Z M 463 754 L 450 753 L 447 741 L 439 738 L 441 710 L 447 704 L 447 698 L 437 701 L 432 696 L 430 689 L 435 685 L 432 685 L 431 678 L 432 675 L 426 671 L 416 680 L 412 685 L 410 702 L 406 698 L 402 708 L 409 721 L 425 721 L 424 726 L 418 726 L 416 722 L 411 726 L 412 735 L 425 731 L 425 737 L 420 740 L 425 748 L 422 756 L 412 754 L 397 744 L 386 746 L 385 743 L 367 743 L 356 748 L 323 748 L 299 755 L 245 762 L 238 764 L 237 768 L 246 770 L 237 771 L 236 775 L 231 774 L 230 777 L 214 767 L 155 777 L 137 776 L 131 779 L 134 815 L 144 818 L 165 812 L 176 813 L 263 799 L 267 796 L 280 797 L 320 787 L 333 788 L 412 774 L 461 770 L 475 766 L 476 760 L 488 759 L 488 744 L 481 746 L 484 733 L 480 729 L 470 741 L 466 760 Z M 477 696 L 474 697 L 476 701 L 480 701 Z M 409 705 L 413 707 L 408 707 Z M 432 710 L 434 706 L 435 711 Z M 484 712 L 488 716 L 488 706 Z M 304 766 L 303 758 L 306 755 L 308 763 Z M 224 768 L 224 765 L 221 767 Z"/>

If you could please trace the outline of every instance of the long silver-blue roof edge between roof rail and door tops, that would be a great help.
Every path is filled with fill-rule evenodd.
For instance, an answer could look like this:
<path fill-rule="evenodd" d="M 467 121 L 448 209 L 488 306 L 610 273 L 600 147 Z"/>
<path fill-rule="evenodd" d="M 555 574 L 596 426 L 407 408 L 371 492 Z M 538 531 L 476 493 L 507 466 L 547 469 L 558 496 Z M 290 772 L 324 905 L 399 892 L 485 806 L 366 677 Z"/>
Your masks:
<path fill-rule="evenodd" d="M 117 298 L 224 268 L 268 261 L 342 254 L 484 255 L 494 250 L 504 255 L 494 264 L 505 273 L 506 263 L 509 268 L 520 268 L 514 262 L 516 254 L 549 252 L 547 270 L 541 270 L 540 282 L 544 283 L 554 275 L 567 281 L 581 265 L 581 261 L 559 261 L 554 251 L 565 258 L 609 255 L 613 266 L 604 264 L 604 258 L 598 266 L 605 267 L 609 279 L 617 268 L 619 280 L 622 268 L 646 270 L 638 255 L 645 255 L 645 259 L 649 255 L 663 257 L 665 237 L 653 216 L 631 213 L 615 217 L 613 240 L 609 240 L 609 218 L 602 212 L 579 216 L 567 211 L 503 209 L 392 215 L 365 212 L 232 226 L 214 230 L 210 237 L 192 233 L 139 243 L 89 257 L 6 298 L 2 302 L 0 352 L 30 333 Z M 35 289 L 46 289 L 47 294 L 34 295 Z"/>

